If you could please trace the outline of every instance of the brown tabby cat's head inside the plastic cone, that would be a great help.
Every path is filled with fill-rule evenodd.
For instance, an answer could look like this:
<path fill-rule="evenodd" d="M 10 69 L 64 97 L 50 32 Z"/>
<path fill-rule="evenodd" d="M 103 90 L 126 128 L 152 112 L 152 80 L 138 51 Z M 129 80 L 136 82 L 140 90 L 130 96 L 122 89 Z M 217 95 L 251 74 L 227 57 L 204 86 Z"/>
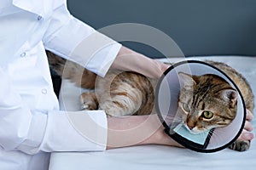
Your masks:
<path fill-rule="evenodd" d="M 178 111 L 191 133 L 201 133 L 214 127 L 225 127 L 236 116 L 237 92 L 222 77 L 207 74 L 191 76 L 179 72 L 183 84 L 178 99 Z"/>

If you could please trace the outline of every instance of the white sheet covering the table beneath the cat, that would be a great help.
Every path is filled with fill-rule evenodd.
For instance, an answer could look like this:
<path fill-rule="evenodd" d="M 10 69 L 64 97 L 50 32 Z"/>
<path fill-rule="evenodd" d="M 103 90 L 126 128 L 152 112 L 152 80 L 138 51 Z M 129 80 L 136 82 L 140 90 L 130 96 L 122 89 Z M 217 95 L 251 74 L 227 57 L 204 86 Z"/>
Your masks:
<path fill-rule="evenodd" d="M 189 59 L 212 59 L 222 61 L 233 66 L 247 78 L 256 92 L 256 57 L 196 57 Z M 166 59 L 164 59 L 166 60 Z M 169 59 L 177 62 L 181 59 Z M 65 105 L 61 101 L 61 108 L 78 110 L 78 95 L 80 88 L 73 83 L 64 80 L 61 87 L 61 95 L 65 96 Z M 255 109 L 254 109 L 255 112 Z M 253 120 L 253 127 L 256 128 L 256 121 Z M 55 152 L 51 154 L 50 170 L 84 170 L 84 169 L 223 169 L 241 170 L 256 168 L 256 139 L 252 141 L 250 150 L 237 152 L 224 149 L 215 153 L 198 153 L 188 149 L 180 149 L 160 145 L 143 145 L 135 147 L 106 150 L 103 152 Z"/>

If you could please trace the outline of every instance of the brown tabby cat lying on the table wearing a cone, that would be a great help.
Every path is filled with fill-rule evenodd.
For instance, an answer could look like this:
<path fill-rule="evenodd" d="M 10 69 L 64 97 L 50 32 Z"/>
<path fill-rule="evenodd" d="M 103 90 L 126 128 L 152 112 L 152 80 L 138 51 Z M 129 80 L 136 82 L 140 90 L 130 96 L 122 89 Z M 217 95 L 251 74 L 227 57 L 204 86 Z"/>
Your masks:
<path fill-rule="evenodd" d="M 72 61 L 48 51 L 47 55 L 50 68 L 61 77 L 70 79 L 81 88 L 96 87 L 95 91 L 79 96 L 81 109 L 103 109 L 108 116 L 148 115 L 155 112 L 154 88 L 158 80 L 131 71 L 109 71 L 104 78 L 96 77 L 95 73 Z M 253 112 L 253 92 L 247 80 L 229 65 L 208 60 L 205 62 L 224 71 L 236 83 L 247 109 Z M 179 94 L 178 110 L 191 131 L 198 133 L 212 127 L 224 127 L 232 122 L 236 116 L 237 92 L 228 82 L 215 75 L 178 74 L 184 83 Z M 191 87 L 194 88 L 194 93 L 191 93 Z M 201 116 L 193 115 L 195 111 L 201 111 Z M 236 140 L 230 145 L 230 149 L 239 151 L 248 150 L 249 147 L 250 141 L 247 140 Z"/>

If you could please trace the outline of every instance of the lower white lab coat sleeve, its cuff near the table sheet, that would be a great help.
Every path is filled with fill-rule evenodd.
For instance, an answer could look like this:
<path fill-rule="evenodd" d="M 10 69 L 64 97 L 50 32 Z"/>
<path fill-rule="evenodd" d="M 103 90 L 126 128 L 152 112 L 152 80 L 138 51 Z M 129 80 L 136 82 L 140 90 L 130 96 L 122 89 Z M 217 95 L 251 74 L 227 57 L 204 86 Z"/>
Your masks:
<path fill-rule="evenodd" d="M 0 147 L 27 154 L 39 151 L 105 150 L 104 111 L 31 111 L 0 68 Z"/>

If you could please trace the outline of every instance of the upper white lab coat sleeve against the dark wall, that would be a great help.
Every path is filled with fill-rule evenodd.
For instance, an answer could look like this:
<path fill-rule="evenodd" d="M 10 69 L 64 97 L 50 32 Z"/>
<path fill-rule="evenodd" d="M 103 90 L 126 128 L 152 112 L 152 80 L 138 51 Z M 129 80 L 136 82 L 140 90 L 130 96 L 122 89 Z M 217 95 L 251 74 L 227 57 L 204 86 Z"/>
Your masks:
<path fill-rule="evenodd" d="M 67 4 L 55 8 L 44 35 L 49 51 L 105 76 L 121 45 L 73 17 Z"/>

